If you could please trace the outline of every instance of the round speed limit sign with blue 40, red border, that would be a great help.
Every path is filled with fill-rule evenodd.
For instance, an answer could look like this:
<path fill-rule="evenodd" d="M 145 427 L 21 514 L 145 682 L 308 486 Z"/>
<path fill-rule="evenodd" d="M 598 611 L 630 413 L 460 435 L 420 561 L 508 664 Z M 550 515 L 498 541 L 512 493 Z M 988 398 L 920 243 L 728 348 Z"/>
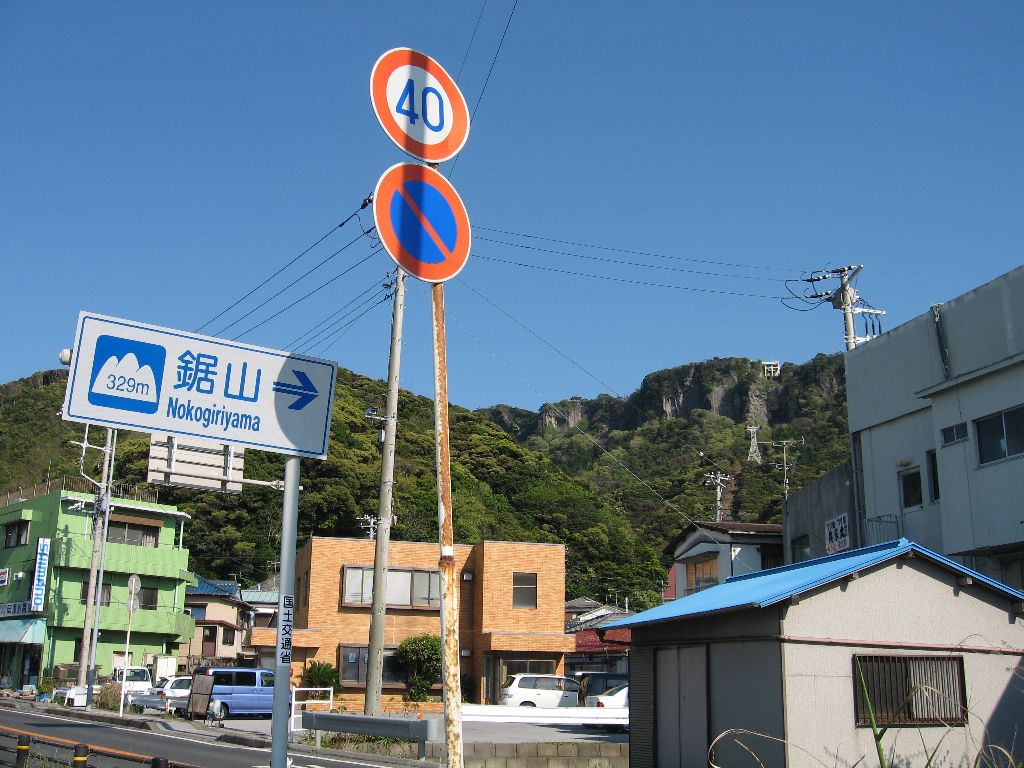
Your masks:
<path fill-rule="evenodd" d="M 469 138 L 469 110 L 444 68 L 425 53 L 392 48 L 370 74 L 370 100 L 384 132 L 426 163 L 442 163 Z"/>

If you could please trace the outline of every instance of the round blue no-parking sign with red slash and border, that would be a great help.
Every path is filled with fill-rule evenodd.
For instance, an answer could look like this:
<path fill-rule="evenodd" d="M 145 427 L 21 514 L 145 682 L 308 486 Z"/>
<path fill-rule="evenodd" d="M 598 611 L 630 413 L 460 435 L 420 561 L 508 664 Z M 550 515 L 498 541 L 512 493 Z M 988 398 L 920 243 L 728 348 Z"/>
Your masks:
<path fill-rule="evenodd" d="M 427 283 L 451 280 L 469 258 L 469 214 L 452 183 L 433 168 L 399 163 L 374 189 L 374 222 L 384 249 Z"/>

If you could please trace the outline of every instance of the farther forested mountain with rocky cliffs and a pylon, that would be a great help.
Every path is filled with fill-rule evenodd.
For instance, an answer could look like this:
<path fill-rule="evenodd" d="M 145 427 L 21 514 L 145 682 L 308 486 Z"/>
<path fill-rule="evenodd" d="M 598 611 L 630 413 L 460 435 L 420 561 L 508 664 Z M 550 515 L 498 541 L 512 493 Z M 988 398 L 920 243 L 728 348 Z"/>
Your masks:
<path fill-rule="evenodd" d="M 849 458 L 841 354 L 786 364 L 715 358 L 648 375 L 629 397 L 479 412 L 597 493 L 657 549 L 691 519 L 714 519 L 706 473 L 724 472 L 728 517 L 779 522 L 783 443 L 791 493 Z M 748 461 L 758 425 L 762 463 Z"/>

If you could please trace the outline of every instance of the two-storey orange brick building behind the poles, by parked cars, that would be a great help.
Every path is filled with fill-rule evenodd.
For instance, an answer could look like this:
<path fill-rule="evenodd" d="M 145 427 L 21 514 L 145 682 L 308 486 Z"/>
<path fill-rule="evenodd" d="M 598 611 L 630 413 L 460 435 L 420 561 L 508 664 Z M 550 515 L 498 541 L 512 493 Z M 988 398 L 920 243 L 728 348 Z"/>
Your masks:
<path fill-rule="evenodd" d="M 361 705 L 366 687 L 375 543 L 313 537 L 296 555 L 293 676 L 309 662 L 338 668 L 346 698 Z M 398 643 L 440 634 L 438 549 L 391 542 L 389 605 L 384 630 L 384 701 L 404 684 L 389 662 Z M 562 673 L 574 648 L 564 632 L 565 548 L 556 544 L 480 542 L 455 547 L 459 571 L 459 637 L 464 690 L 494 700 L 501 681 L 518 672 Z M 253 633 L 271 646 L 273 630 Z M 439 690 L 439 689 L 438 689 Z"/>

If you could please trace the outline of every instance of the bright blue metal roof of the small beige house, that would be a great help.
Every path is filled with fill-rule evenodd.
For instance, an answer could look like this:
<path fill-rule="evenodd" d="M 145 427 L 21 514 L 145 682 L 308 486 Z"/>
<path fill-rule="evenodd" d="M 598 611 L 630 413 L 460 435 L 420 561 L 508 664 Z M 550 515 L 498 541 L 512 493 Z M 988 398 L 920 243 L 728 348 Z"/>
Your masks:
<path fill-rule="evenodd" d="M 1022 592 L 953 562 L 920 544 L 899 539 L 895 542 L 850 550 L 793 565 L 732 577 L 722 584 L 701 592 L 680 597 L 629 618 L 606 624 L 603 629 L 636 627 L 724 610 L 764 608 L 909 552 L 921 555 L 957 573 L 971 577 L 977 583 L 986 585 L 1014 600 L 1024 600 Z"/>

